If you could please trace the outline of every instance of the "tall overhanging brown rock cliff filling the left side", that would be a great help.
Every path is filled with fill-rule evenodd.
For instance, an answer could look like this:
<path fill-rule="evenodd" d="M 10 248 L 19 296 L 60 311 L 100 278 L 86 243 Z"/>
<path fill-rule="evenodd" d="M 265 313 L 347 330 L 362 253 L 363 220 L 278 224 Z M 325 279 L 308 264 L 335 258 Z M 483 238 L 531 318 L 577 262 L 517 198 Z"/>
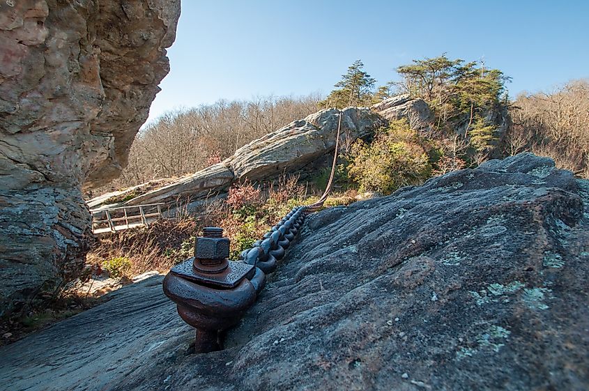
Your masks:
<path fill-rule="evenodd" d="M 0 313 L 79 269 L 80 189 L 125 164 L 179 13 L 179 0 L 1 2 Z"/>

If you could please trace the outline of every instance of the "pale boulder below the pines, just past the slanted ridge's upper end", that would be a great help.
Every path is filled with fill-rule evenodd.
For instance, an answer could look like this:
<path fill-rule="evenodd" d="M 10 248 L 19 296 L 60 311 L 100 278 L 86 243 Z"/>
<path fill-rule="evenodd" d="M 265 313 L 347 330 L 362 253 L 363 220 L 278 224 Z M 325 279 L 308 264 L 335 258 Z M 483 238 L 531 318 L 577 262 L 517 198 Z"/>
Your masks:
<path fill-rule="evenodd" d="M 388 121 L 406 118 L 411 128 L 417 130 L 429 129 L 429 123 L 434 121 L 434 113 L 427 103 L 420 98 L 411 98 L 408 93 L 395 95 L 370 108 Z"/>

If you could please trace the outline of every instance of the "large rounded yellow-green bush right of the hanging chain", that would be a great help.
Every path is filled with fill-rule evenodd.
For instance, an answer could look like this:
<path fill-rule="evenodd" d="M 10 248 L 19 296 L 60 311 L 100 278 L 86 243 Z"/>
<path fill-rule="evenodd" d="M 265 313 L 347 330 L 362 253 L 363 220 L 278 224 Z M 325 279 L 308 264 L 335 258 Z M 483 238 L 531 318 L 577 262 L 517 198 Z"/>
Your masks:
<path fill-rule="evenodd" d="M 427 151 L 406 121 L 392 121 L 371 144 L 352 145 L 349 175 L 361 192 L 390 194 L 399 187 L 418 185 L 431 175 Z"/>

